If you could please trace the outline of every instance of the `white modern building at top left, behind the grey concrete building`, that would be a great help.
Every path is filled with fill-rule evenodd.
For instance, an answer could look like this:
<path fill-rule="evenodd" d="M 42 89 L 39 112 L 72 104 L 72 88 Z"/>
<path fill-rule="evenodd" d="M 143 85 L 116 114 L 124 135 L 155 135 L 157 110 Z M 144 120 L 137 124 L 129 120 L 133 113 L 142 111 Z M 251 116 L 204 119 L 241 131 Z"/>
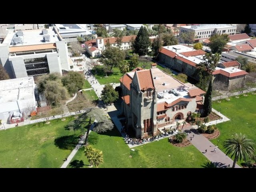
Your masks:
<path fill-rule="evenodd" d="M 68 43 L 77 42 L 77 36 L 92 36 L 87 24 L 55 24 L 54 30 Z"/>

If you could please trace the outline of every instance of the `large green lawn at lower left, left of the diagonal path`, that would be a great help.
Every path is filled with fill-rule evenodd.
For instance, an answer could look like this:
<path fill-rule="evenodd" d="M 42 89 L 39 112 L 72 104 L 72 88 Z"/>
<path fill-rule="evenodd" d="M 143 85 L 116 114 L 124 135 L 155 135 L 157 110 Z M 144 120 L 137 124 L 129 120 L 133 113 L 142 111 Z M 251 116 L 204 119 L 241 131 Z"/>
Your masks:
<path fill-rule="evenodd" d="M 0 167 L 60 168 L 81 134 L 80 131 L 65 130 L 73 119 L 68 117 L 65 121 L 52 120 L 50 124 L 41 122 L 1 130 Z"/>

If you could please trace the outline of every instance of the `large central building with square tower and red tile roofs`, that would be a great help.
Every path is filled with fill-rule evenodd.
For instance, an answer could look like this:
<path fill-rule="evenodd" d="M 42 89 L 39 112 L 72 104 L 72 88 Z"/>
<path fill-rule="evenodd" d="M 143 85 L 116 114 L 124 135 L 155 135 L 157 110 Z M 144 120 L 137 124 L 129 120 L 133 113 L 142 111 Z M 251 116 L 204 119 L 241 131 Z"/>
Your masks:
<path fill-rule="evenodd" d="M 149 70 L 136 68 L 120 78 L 124 87 L 122 112 L 137 138 L 156 134 L 160 128 L 170 128 L 192 112 L 203 112 L 204 92 L 182 83 L 152 64 Z"/>

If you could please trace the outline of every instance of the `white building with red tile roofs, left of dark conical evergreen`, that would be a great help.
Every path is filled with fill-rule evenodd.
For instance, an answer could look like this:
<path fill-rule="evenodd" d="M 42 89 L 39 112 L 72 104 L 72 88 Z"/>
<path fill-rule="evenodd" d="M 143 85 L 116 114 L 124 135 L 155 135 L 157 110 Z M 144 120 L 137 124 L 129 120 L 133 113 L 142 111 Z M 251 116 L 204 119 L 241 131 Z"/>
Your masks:
<path fill-rule="evenodd" d="M 132 40 L 136 38 L 136 35 L 130 35 L 130 36 L 124 36 L 122 37 L 122 44 L 120 46 L 120 49 L 130 49 L 130 46 L 132 45 Z M 86 41 L 84 43 L 86 52 L 92 56 L 92 57 L 98 57 L 101 55 L 101 53 L 105 50 L 106 43 L 109 42 L 110 46 L 112 47 L 118 47 L 118 43 L 116 42 L 117 38 L 111 37 L 111 38 L 102 38 L 98 37 L 96 39 Z"/>

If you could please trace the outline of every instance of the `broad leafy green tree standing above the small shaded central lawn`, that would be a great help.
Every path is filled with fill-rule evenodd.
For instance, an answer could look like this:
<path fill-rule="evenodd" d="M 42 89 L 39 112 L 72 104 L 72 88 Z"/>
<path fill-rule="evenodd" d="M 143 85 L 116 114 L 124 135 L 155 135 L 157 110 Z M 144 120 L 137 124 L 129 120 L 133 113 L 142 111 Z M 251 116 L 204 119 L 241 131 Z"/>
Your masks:
<path fill-rule="evenodd" d="M 110 70 L 113 66 L 118 67 L 122 60 L 124 60 L 124 52 L 116 47 L 107 48 L 99 59 L 104 65 L 110 66 Z"/>

